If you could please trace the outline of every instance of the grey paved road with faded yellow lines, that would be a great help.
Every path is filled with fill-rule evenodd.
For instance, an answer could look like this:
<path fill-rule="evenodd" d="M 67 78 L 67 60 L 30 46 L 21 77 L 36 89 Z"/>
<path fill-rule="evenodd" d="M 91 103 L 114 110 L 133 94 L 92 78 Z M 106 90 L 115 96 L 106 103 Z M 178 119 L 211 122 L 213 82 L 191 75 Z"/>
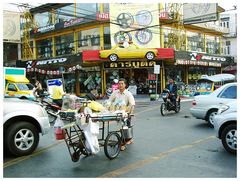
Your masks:
<path fill-rule="evenodd" d="M 31 156 L 4 157 L 4 177 L 70 178 L 235 178 L 236 156 L 228 154 L 212 128 L 191 117 L 191 103 L 162 117 L 159 102 L 139 102 L 134 144 L 108 160 L 101 152 L 72 162 L 53 130 Z M 30 171 L 31 170 L 31 171 Z"/>

